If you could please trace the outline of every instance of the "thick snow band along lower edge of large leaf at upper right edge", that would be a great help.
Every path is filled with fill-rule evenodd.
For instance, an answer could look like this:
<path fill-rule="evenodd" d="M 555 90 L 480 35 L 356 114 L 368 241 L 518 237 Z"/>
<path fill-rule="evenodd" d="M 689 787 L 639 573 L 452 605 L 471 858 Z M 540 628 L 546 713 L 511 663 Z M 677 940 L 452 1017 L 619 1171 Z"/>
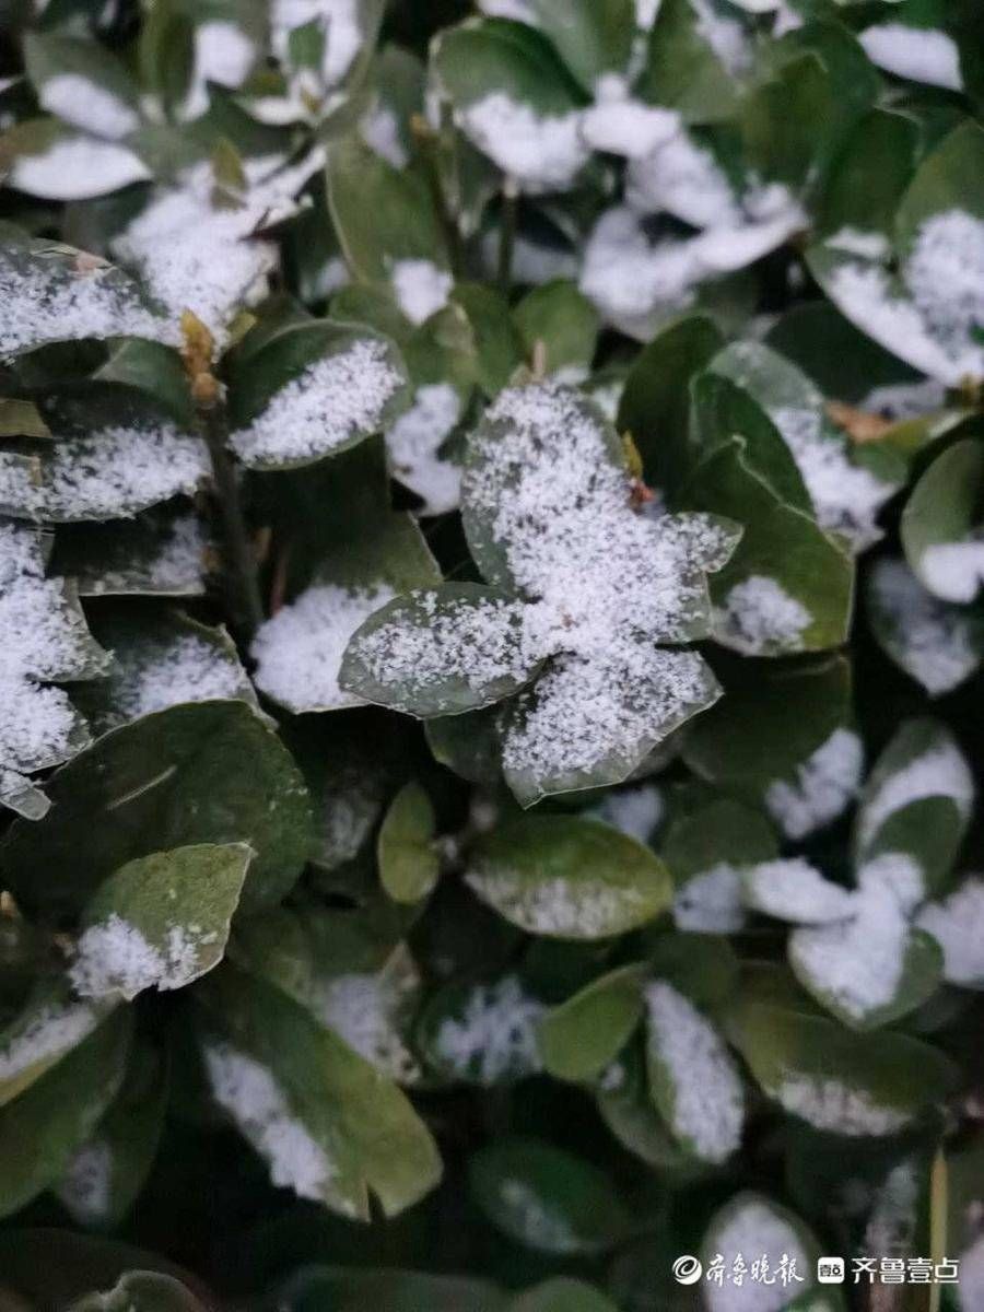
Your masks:
<path fill-rule="evenodd" d="M 892 287 L 880 265 L 848 260 L 834 270 L 829 290 L 842 314 L 921 373 L 949 387 L 958 387 L 966 375 L 984 374 L 984 348 L 970 338 L 956 349 L 953 341 L 950 346 L 937 341 L 917 306 Z M 928 291 L 926 300 L 932 299 Z"/>

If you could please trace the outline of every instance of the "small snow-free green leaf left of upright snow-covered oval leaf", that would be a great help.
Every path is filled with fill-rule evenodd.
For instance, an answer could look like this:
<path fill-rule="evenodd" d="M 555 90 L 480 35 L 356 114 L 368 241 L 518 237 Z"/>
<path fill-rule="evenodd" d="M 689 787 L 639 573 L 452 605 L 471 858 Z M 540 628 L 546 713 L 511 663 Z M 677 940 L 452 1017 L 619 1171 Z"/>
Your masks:
<path fill-rule="evenodd" d="M 610 971 L 543 1017 L 539 1047 L 555 1080 L 593 1080 L 614 1061 L 643 1014 L 643 971 Z"/>

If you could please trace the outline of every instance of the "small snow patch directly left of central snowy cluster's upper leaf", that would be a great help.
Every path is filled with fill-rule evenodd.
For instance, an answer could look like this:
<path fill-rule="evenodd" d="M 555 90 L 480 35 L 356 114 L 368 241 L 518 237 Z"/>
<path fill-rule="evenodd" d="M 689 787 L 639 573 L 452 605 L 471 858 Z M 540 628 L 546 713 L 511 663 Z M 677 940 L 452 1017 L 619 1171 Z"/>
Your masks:
<path fill-rule="evenodd" d="M 462 471 L 441 459 L 441 445 L 450 437 L 462 401 L 450 383 L 417 388 L 413 404 L 386 434 L 390 472 L 424 501 L 420 514 L 445 514 L 458 506 Z"/>

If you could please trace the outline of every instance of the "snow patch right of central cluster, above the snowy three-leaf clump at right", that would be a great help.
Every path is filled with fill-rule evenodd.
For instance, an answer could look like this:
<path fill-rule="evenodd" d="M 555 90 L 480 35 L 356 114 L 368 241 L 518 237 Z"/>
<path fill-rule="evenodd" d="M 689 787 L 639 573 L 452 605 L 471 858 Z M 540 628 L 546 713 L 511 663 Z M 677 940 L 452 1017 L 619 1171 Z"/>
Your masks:
<path fill-rule="evenodd" d="M 836 820 L 861 787 L 865 749 L 838 728 L 786 779 L 765 790 L 765 806 L 787 838 L 804 838 Z"/>

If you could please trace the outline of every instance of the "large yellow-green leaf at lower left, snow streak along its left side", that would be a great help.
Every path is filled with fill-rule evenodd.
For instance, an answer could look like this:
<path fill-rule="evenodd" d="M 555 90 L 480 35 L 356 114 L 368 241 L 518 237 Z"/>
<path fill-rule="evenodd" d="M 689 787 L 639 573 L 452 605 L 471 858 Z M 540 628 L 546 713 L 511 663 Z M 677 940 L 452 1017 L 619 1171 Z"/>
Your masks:
<path fill-rule="evenodd" d="M 370 1193 L 395 1216 L 433 1189 L 441 1158 L 424 1123 L 331 1030 L 228 966 L 195 996 L 206 1009 L 213 1092 L 266 1157 L 274 1183 L 361 1220 Z"/>

